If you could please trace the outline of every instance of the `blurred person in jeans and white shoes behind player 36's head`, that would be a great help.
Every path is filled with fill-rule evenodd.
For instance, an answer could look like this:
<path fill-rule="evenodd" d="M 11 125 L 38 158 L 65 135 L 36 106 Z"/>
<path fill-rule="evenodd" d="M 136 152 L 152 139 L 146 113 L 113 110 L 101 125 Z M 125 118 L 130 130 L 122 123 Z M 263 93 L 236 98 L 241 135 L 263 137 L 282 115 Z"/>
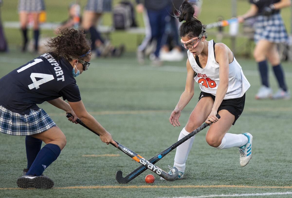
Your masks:
<path fill-rule="evenodd" d="M 181 61 L 184 58 L 183 47 L 180 45 L 178 38 L 178 29 L 180 22 L 174 16 L 179 15 L 178 10 L 184 0 L 172 0 L 173 16 L 168 16 L 168 22 L 166 24 L 165 34 L 162 39 L 162 47 L 160 50 L 159 58 L 161 61 Z M 194 15 L 198 16 L 201 11 L 202 0 L 189 0 L 192 2 L 195 8 Z"/>

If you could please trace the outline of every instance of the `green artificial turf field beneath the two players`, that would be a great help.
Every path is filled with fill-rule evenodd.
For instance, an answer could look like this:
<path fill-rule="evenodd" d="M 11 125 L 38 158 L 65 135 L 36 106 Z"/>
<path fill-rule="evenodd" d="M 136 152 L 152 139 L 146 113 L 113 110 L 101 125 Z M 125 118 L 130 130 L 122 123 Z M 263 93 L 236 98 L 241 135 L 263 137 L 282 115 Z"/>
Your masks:
<path fill-rule="evenodd" d="M 0 77 L 33 58 L 13 49 L 0 54 Z M 91 62 L 89 70 L 77 78 L 81 98 L 114 140 L 148 159 L 177 141 L 199 94 L 195 84 L 194 98 L 180 117 L 182 126 L 171 126 L 168 118 L 185 86 L 185 62 L 165 62 L 163 67 L 151 67 L 148 62 L 140 66 L 130 53 L 120 59 Z M 239 165 L 237 148 L 210 147 L 204 138 L 205 129 L 195 137 L 185 179 L 167 182 L 154 175 L 155 183 L 146 184 L 145 176 L 152 174 L 147 170 L 128 184 L 119 184 L 116 171 L 122 170 L 125 176 L 139 164 L 82 126 L 67 121 L 62 110 L 44 103 L 40 107 L 67 137 L 66 147 L 44 172 L 55 186 L 50 190 L 17 188 L 16 179 L 26 166 L 25 137 L 0 133 L 0 197 L 216 197 L 246 193 L 292 197 L 291 100 L 255 100 L 259 86 L 256 64 L 240 58 L 238 62 L 251 88 L 246 93 L 245 110 L 230 133 L 250 132 L 254 137 L 253 158 L 246 167 Z M 291 89 L 291 63 L 284 62 L 283 66 Z M 270 74 L 276 91 L 271 70 Z M 157 165 L 167 170 L 167 165 L 173 165 L 174 155 L 172 151 Z M 265 194 L 280 192 L 284 194 Z"/>

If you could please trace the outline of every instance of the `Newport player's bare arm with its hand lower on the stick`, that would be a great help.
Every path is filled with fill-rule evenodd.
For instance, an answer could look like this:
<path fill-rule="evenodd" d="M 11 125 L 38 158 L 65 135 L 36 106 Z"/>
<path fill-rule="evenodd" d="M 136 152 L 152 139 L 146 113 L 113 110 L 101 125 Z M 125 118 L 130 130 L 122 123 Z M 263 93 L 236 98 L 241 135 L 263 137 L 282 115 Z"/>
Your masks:
<path fill-rule="evenodd" d="M 118 147 L 117 143 L 112 139 L 111 134 L 107 132 L 105 128 L 103 128 L 101 124 L 99 124 L 98 121 L 96 121 L 95 118 L 86 111 L 82 100 L 80 100 L 79 102 L 69 102 L 69 105 L 72 107 L 77 117 L 86 126 L 88 126 L 100 135 L 100 139 L 102 142 L 106 144 L 113 143 L 114 145 L 116 145 L 116 147 Z"/>

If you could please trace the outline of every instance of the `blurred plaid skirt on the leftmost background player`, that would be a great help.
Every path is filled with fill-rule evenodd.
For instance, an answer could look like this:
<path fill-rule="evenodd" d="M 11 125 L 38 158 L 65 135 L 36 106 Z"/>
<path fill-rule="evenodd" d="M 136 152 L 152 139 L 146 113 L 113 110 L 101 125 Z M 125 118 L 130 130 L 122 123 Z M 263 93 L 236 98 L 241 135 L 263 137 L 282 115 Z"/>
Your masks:
<path fill-rule="evenodd" d="M 18 12 L 39 12 L 45 10 L 44 0 L 18 0 Z"/>

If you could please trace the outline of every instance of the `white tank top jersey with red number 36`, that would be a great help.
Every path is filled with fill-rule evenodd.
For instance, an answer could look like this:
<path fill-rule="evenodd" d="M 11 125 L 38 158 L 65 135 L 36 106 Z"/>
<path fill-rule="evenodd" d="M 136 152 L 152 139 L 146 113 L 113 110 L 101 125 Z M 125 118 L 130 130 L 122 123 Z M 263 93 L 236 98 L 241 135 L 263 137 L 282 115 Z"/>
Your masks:
<path fill-rule="evenodd" d="M 204 69 L 197 64 L 194 55 L 189 50 L 187 51 L 187 56 L 193 70 L 197 73 L 194 79 L 200 84 L 201 91 L 216 96 L 217 87 L 219 85 L 219 63 L 215 60 L 213 43 L 213 40 L 208 41 L 208 59 Z M 233 61 L 229 64 L 228 77 L 228 89 L 224 100 L 240 98 L 251 86 L 234 55 Z"/>

